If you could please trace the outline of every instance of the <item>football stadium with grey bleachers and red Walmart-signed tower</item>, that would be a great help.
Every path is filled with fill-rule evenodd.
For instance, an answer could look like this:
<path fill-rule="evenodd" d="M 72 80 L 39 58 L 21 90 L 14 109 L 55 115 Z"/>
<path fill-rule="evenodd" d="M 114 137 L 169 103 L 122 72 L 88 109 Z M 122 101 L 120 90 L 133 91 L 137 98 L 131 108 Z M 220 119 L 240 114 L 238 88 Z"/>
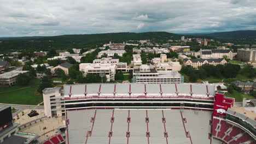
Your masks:
<path fill-rule="evenodd" d="M 68 144 L 256 143 L 255 112 L 211 84 L 65 85 L 61 95 Z"/>

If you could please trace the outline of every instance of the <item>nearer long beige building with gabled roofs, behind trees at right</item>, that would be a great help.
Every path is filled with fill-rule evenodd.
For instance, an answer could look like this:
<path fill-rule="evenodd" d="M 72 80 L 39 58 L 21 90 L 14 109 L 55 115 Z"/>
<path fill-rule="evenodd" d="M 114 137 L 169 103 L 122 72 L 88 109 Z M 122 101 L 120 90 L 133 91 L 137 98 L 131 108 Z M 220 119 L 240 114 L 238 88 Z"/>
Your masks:
<path fill-rule="evenodd" d="M 203 64 L 211 64 L 211 65 L 218 65 L 218 64 L 226 64 L 226 60 L 224 58 L 218 59 L 184 59 L 184 65 L 191 65 L 191 67 L 198 69 Z"/>

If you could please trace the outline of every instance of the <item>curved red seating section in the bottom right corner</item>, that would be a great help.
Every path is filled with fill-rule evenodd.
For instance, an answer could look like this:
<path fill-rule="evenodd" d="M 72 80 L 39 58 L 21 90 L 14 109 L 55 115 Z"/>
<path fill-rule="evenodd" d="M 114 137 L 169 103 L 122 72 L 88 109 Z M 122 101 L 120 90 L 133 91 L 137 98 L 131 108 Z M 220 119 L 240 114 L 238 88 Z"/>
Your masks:
<path fill-rule="evenodd" d="M 218 123 L 220 123 L 220 130 L 216 131 Z M 217 118 L 213 118 L 212 134 L 214 137 L 217 137 L 218 139 L 223 140 L 228 144 L 256 143 L 253 137 L 248 135 L 246 131 Z"/>

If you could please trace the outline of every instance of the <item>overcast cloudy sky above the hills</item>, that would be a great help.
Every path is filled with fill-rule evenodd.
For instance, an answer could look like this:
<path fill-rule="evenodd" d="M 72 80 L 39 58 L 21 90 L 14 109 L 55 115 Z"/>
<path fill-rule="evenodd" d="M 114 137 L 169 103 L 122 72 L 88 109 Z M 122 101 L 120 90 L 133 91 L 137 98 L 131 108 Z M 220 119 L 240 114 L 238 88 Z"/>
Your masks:
<path fill-rule="evenodd" d="M 0 37 L 245 29 L 255 0 L 0 0 Z"/>

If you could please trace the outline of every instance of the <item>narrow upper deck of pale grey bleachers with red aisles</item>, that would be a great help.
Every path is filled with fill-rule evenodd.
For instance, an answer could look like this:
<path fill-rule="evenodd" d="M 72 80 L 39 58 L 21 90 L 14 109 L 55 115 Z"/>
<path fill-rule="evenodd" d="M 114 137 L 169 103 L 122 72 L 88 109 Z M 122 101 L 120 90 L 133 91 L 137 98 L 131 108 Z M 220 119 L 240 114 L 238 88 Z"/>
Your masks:
<path fill-rule="evenodd" d="M 65 85 L 64 97 L 86 97 L 98 95 L 99 97 L 138 97 L 140 95 L 167 97 L 178 95 L 190 95 L 193 97 L 207 98 L 214 97 L 214 85 L 203 83 L 182 83 L 182 84 L 167 84 L 167 83 L 94 83 L 81 85 Z M 114 95 L 115 93 L 115 95 Z M 130 94 L 129 94 L 130 93 Z M 162 95 L 161 95 L 162 93 Z"/>

